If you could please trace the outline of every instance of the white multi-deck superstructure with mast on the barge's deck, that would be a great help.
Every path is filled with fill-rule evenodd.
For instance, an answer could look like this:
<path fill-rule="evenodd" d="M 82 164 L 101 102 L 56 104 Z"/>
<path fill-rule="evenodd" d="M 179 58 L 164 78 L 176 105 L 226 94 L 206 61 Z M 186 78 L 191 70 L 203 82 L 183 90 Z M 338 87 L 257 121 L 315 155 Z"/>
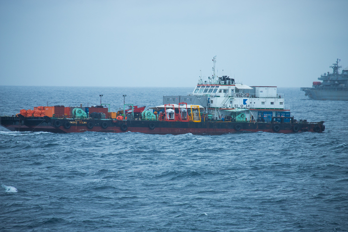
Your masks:
<path fill-rule="evenodd" d="M 208 81 L 199 79 L 190 96 L 207 100 L 206 113 L 213 120 L 226 119 L 269 121 L 272 116 L 290 116 L 290 107 L 276 86 L 248 86 L 233 78 L 215 76 L 216 57 L 213 58 L 213 76 Z"/>

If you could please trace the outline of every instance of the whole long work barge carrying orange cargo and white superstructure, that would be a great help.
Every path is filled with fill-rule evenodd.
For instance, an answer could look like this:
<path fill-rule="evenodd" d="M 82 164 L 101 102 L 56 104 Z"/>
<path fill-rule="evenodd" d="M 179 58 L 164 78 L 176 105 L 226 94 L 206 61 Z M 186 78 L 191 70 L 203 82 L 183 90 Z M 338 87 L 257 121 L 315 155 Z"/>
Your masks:
<path fill-rule="evenodd" d="M 323 132 L 321 122 L 296 120 L 276 86 L 248 86 L 234 78 L 213 74 L 186 96 L 163 96 L 163 105 L 110 112 L 97 107 L 36 107 L 16 116 L 1 116 L 0 125 L 12 131 L 141 132 L 148 134 L 224 134 L 241 131 L 297 133 Z M 125 95 L 124 95 L 125 96 Z M 129 109 L 125 109 L 126 107 Z M 40 110 L 41 109 L 41 110 Z M 54 113 L 53 113 L 54 111 Z"/>

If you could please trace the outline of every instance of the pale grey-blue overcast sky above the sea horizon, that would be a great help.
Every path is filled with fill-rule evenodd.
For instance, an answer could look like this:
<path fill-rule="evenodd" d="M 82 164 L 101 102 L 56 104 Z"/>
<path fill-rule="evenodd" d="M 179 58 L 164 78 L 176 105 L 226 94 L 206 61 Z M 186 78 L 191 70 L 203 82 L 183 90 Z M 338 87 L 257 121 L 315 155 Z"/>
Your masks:
<path fill-rule="evenodd" d="M 0 85 L 309 87 L 348 66 L 348 0 L 0 0 Z M 224 70 L 224 72 L 223 72 Z"/>

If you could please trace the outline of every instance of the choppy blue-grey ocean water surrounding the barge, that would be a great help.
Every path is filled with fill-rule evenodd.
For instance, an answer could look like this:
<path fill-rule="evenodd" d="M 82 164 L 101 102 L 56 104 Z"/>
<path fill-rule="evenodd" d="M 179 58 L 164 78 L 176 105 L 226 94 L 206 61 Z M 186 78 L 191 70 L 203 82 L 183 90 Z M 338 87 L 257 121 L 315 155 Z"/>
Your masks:
<path fill-rule="evenodd" d="M 0 86 L 0 114 L 162 104 L 193 88 Z M 0 231 L 347 232 L 348 102 L 278 88 L 323 133 L 54 134 L 0 129 Z"/>

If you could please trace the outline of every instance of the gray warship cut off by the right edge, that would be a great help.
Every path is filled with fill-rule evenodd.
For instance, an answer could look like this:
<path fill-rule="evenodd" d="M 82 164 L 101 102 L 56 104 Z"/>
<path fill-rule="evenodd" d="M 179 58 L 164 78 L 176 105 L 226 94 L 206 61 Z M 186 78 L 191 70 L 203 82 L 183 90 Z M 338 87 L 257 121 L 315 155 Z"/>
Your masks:
<path fill-rule="evenodd" d="M 314 100 L 348 101 L 348 67 L 339 73 L 339 69 L 342 68 L 338 65 L 340 61 L 337 59 L 336 63 L 330 66 L 333 69 L 332 73 L 327 72 L 327 75 L 324 73 L 318 77 L 318 80 L 323 82 L 314 81 L 312 88 L 302 87 L 304 95 Z"/>

